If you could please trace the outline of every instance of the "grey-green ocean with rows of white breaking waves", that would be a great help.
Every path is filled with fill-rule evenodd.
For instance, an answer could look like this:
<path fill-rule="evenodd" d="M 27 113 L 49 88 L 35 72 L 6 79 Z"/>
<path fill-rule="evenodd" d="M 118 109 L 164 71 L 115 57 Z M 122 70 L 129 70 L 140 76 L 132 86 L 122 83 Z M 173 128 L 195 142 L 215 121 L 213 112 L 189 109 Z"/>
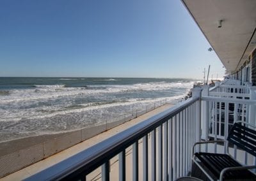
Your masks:
<path fill-rule="evenodd" d="M 0 77 L 0 141 L 104 124 L 160 101 L 175 104 L 195 81 Z"/>

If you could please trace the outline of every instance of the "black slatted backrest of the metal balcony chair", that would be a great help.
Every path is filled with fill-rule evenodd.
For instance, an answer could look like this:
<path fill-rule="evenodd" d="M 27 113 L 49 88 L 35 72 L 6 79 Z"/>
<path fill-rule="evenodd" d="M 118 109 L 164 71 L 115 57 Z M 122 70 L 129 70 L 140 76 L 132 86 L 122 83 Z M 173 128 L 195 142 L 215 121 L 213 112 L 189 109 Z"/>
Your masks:
<path fill-rule="evenodd" d="M 227 140 L 256 157 L 256 131 L 235 123 L 228 133 Z"/>

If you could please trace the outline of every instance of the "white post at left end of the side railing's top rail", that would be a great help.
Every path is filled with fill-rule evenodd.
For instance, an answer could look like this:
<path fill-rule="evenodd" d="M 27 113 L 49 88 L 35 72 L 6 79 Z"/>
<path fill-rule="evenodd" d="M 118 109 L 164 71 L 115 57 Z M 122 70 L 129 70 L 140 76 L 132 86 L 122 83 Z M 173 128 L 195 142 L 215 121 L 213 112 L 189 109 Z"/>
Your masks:
<path fill-rule="evenodd" d="M 203 86 L 202 96 L 209 96 L 209 85 Z M 202 139 L 207 140 L 209 130 L 209 117 L 207 101 L 202 101 Z"/>

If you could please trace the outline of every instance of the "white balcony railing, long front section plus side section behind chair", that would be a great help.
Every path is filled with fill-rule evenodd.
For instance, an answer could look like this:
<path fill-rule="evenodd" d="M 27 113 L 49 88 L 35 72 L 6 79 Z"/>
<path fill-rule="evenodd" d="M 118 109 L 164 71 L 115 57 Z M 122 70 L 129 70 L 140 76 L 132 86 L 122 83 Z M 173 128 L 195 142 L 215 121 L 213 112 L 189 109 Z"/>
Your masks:
<path fill-rule="evenodd" d="M 227 138 L 234 122 L 255 125 L 254 87 L 236 80 L 193 89 L 193 97 L 65 159 L 26 180 L 175 180 L 191 174 L 192 147 Z M 255 157 L 212 143 L 196 150 L 228 152 L 242 164 Z"/>

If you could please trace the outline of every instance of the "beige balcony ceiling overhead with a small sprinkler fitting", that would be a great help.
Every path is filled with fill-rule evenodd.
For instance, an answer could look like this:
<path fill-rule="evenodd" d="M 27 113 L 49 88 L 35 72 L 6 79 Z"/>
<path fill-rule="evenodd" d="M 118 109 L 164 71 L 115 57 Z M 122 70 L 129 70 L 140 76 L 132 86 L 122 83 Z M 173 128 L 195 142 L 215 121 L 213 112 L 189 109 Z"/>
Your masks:
<path fill-rule="evenodd" d="M 227 72 L 239 69 L 256 47 L 256 0 L 182 1 Z"/>

